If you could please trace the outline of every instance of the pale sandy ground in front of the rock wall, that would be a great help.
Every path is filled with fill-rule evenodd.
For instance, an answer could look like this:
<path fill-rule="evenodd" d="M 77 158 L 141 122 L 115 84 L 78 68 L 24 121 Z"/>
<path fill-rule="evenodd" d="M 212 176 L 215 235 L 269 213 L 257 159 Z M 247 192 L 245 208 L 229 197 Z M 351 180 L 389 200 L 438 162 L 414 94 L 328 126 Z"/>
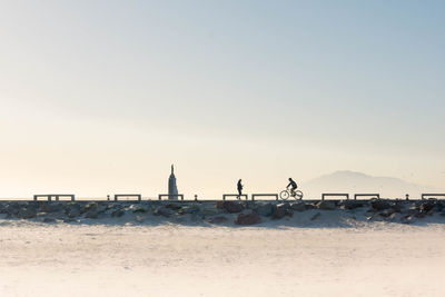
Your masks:
<path fill-rule="evenodd" d="M 0 220 L 0 296 L 445 296 L 445 225 Z"/>

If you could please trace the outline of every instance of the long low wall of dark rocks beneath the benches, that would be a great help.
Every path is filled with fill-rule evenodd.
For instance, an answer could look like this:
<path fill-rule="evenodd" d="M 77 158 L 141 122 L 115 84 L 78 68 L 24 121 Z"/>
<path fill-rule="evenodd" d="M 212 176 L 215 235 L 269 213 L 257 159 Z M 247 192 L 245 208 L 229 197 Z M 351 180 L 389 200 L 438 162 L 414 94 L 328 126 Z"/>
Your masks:
<path fill-rule="evenodd" d="M 334 215 L 333 215 L 334 214 Z M 436 217 L 445 222 L 445 200 L 323 201 L 1 201 L 1 219 L 41 222 L 235 224 L 312 222 L 354 219 L 412 224 Z"/>

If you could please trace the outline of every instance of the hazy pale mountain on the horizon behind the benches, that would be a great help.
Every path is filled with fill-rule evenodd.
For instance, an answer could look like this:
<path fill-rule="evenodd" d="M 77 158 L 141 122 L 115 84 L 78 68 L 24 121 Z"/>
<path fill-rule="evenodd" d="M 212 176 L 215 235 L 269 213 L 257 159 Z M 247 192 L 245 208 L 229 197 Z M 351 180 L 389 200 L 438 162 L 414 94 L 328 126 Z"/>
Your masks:
<path fill-rule="evenodd" d="M 394 177 L 373 177 L 355 171 L 336 171 L 301 184 L 306 197 L 317 198 L 322 192 L 378 192 L 380 197 L 417 198 L 422 192 L 443 192 L 431 186 L 422 186 Z"/>

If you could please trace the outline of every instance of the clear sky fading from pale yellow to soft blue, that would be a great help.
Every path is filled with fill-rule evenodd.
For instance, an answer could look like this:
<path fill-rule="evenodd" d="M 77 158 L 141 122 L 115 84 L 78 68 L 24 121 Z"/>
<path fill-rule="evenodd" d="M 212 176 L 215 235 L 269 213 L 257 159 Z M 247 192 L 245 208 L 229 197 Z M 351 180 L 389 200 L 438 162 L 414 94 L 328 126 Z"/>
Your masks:
<path fill-rule="evenodd" d="M 0 197 L 443 187 L 444 1 L 0 2 Z"/>

